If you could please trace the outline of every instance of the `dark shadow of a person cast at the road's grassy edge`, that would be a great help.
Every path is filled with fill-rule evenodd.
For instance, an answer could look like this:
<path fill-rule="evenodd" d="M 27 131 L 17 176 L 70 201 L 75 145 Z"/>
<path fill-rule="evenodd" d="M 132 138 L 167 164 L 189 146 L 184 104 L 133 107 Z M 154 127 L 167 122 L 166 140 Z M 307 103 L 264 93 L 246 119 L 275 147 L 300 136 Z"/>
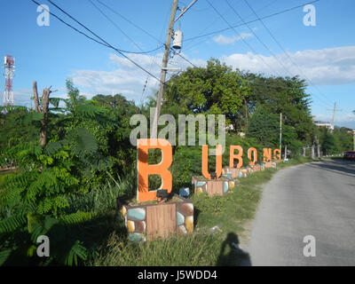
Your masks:
<path fill-rule="evenodd" d="M 239 239 L 235 233 L 228 233 L 223 241 L 217 259 L 217 266 L 251 266 L 250 256 L 239 248 Z"/>

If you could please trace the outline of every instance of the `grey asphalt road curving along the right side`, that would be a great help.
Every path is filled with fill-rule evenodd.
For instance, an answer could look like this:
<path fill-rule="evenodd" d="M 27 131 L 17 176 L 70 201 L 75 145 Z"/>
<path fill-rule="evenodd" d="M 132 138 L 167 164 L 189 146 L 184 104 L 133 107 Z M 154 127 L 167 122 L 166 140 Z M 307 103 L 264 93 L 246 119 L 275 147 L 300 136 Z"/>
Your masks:
<path fill-rule="evenodd" d="M 304 236 L 316 256 L 304 256 Z M 355 265 L 355 162 L 280 170 L 264 186 L 248 243 L 251 265 Z"/>

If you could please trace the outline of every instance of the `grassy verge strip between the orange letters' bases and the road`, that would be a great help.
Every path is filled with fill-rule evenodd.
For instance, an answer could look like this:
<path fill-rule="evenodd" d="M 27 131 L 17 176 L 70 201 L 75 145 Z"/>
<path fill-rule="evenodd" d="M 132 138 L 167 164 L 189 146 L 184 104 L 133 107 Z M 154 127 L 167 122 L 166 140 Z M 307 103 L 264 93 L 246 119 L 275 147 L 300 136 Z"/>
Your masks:
<path fill-rule="evenodd" d="M 245 261 L 245 256 L 231 249 L 230 244 L 239 243 L 239 235 L 243 233 L 244 225 L 255 216 L 262 185 L 269 181 L 277 170 L 304 162 L 312 162 L 312 160 L 300 158 L 282 162 L 278 165 L 278 169 L 268 169 L 240 178 L 239 185 L 223 197 L 192 196 L 195 211 L 195 230 L 192 234 L 172 236 L 163 241 L 134 244 L 126 242 L 122 238 L 122 233 L 113 232 L 108 240 L 95 250 L 95 254 L 86 264 L 239 265 Z M 110 214 L 116 213 L 113 210 Z M 119 222 L 116 218 L 114 220 Z M 220 230 L 211 233 L 210 228 L 215 225 L 218 225 Z"/>

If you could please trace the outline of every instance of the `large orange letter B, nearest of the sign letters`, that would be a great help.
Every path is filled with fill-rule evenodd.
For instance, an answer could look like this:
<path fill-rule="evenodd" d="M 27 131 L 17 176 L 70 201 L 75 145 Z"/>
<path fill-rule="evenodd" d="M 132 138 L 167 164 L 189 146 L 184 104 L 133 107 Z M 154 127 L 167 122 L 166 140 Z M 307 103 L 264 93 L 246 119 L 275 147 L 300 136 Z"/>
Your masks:
<path fill-rule="evenodd" d="M 160 189 L 167 189 L 168 193 L 172 189 L 172 176 L 169 167 L 172 162 L 171 144 L 165 139 L 138 139 L 138 192 L 137 201 L 154 201 L 158 200 L 156 197 L 156 190 L 149 191 L 148 177 L 150 175 L 159 175 L 162 177 L 162 185 Z M 156 165 L 148 164 L 148 150 L 149 149 L 162 150 L 162 162 Z"/>

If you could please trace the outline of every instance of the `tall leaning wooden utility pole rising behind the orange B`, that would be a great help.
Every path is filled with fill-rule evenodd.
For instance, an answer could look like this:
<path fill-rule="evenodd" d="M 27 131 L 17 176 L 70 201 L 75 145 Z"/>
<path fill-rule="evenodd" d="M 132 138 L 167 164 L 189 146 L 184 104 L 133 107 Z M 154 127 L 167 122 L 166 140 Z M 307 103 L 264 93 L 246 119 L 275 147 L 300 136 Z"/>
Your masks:
<path fill-rule="evenodd" d="M 157 138 L 158 136 L 158 121 L 159 121 L 159 116 L 161 114 L 161 108 L 162 108 L 162 92 L 164 91 L 165 78 L 167 75 L 170 43 L 171 43 L 171 37 L 173 36 L 174 33 L 174 23 L 175 23 L 176 13 L 177 13 L 177 0 L 173 0 L 172 9 L 170 13 L 169 28 L 165 40 L 165 51 L 162 57 L 162 72 L 161 72 L 160 86 L 159 86 L 158 98 L 156 100 L 156 109 L 154 114 L 153 126 L 150 130 L 150 138 Z"/>

